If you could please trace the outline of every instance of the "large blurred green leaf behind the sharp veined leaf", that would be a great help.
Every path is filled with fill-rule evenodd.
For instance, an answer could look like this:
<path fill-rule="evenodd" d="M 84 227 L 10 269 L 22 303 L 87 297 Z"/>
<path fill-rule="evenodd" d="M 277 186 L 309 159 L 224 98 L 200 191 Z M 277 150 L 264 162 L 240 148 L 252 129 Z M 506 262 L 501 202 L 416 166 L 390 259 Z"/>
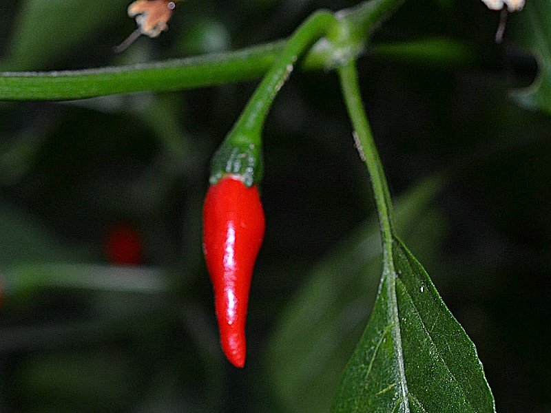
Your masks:
<path fill-rule="evenodd" d="M 395 223 L 400 233 L 411 232 L 412 226 L 420 233 L 441 232 L 438 215 L 422 219 L 441 187 L 441 180 L 430 178 L 399 199 Z M 415 244 L 424 251 L 434 249 L 432 242 L 439 237 L 433 235 L 430 242 L 417 237 Z M 316 266 L 280 317 L 266 370 L 285 412 L 329 410 L 333 393 L 328 389 L 337 387 L 362 335 L 366 308 L 377 292 L 381 262 L 379 227 L 373 218 Z"/>

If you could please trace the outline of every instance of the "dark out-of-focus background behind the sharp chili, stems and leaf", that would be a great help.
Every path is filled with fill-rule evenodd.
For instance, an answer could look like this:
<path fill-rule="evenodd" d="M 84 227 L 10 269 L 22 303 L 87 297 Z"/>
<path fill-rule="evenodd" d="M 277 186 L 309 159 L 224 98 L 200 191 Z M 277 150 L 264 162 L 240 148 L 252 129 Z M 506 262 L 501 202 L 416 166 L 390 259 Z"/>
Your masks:
<path fill-rule="evenodd" d="M 187 1 L 168 32 L 117 55 L 135 28 L 127 3 L 2 1 L 0 68 L 234 50 L 356 1 Z M 550 412 L 551 120 L 510 99 L 537 65 L 509 31 L 495 43 L 497 21 L 478 0 L 406 2 L 374 44 L 446 38 L 469 52 L 368 50 L 362 94 L 399 229 L 475 341 L 497 410 Z M 0 104 L 2 412 L 329 410 L 380 276 L 333 73 L 293 74 L 269 116 L 245 370 L 218 344 L 202 198 L 255 84 Z"/>

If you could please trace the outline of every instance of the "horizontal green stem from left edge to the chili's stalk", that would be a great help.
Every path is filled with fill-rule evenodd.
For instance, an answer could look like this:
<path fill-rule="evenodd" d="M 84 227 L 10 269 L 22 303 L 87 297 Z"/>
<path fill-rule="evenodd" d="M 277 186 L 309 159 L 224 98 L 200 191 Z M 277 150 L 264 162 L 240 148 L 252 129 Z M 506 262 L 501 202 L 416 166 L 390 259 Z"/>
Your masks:
<path fill-rule="evenodd" d="M 267 72 L 284 42 L 161 63 L 66 72 L 0 74 L 1 100 L 70 100 L 249 81 Z"/>

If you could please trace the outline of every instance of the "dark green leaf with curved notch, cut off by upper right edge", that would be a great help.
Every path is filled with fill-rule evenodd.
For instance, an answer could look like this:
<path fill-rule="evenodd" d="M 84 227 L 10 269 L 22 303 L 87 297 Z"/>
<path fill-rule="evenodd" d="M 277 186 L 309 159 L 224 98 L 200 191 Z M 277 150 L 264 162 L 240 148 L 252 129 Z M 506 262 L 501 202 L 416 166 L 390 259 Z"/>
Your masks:
<path fill-rule="evenodd" d="M 511 19 L 513 38 L 526 51 L 532 52 L 539 63 L 539 74 L 530 87 L 511 93 L 523 107 L 551 114 L 551 3 L 530 0 L 524 9 Z"/>

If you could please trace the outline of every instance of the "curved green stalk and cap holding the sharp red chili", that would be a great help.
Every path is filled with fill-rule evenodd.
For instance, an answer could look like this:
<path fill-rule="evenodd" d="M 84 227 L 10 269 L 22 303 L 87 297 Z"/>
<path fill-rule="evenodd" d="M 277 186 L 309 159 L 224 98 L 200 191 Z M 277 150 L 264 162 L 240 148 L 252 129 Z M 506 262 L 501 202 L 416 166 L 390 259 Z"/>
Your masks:
<path fill-rule="evenodd" d="M 331 12 L 318 11 L 295 30 L 214 155 L 211 184 L 227 174 L 238 176 L 247 187 L 262 180 L 262 127 L 273 100 L 300 56 L 335 23 L 337 19 Z"/>

